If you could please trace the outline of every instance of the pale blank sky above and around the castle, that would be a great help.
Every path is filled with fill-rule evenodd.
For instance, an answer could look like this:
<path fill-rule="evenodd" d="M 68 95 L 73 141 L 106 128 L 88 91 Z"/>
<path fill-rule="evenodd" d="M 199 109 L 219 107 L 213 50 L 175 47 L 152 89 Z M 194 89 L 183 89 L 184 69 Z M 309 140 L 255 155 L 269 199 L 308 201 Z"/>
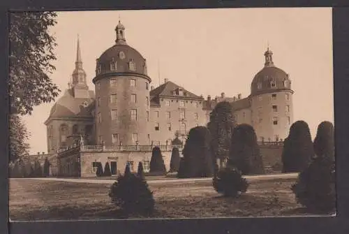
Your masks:
<path fill-rule="evenodd" d="M 290 74 L 294 121 L 334 122 L 332 8 L 225 8 L 59 12 L 50 31 L 57 39 L 50 75 L 62 90 L 75 67 L 77 35 L 89 88 L 96 59 L 112 47 L 115 27 L 126 27 L 128 45 L 147 59 L 151 85 L 167 78 L 194 94 L 246 97 L 264 66 L 269 44 L 275 66 Z M 57 98 L 58 99 L 58 98 Z M 30 153 L 47 152 L 45 120 L 54 103 L 34 108 L 24 122 Z"/>

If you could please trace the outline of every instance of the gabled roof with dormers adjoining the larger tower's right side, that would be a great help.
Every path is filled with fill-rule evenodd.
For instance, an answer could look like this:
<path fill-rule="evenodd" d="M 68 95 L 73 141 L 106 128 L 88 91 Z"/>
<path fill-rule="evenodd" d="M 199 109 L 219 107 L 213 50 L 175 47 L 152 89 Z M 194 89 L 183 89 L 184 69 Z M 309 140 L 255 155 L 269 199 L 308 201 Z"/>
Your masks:
<path fill-rule="evenodd" d="M 174 94 L 174 91 L 177 89 L 183 90 L 183 96 L 179 96 L 177 94 Z M 160 85 L 159 87 L 156 87 L 156 89 L 153 89 L 150 91 L 150 96 L 152 97 L 159 97 L 159 96 L 167 96 L 167 97 L 180 97 L 180 98 L 189 98 L 189 99 L 198 99 L 202 100 L 201 96 L 197 96 L 193 94 L 192 92 L 188 92 L 183 87 L 180 87 L 179 85 L 174 84 L 174 82 L 168 81 L 165 82 L 163 85 Z"/>

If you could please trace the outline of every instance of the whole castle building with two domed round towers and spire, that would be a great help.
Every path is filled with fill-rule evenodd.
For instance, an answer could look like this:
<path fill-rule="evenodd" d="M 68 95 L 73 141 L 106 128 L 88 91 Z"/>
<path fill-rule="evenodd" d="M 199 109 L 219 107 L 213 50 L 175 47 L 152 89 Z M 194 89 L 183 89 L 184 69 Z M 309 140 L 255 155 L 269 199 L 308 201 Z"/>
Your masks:
<path fill-rule="evenodd" d="M 115 44 L 96 59 L 94 91 L 87 86 L 77 39 L 75 70 L 68 89 L 45 122 L 49 154 L 77 145 L 81 139 L 84 145 L 110 147 L 172 145 L 176 137 L 185 140 L 193 127 L 206 126 L 211 110 L 221 101 L 231 103 L 237 124 L 253 126 L 258 141 L 278 142 L 288 136 L 293 121 L 291 81 L 285 71 L 274 66 L 269 47 L 249 96 L 231 98 L 222 93 L 205 99 L 170 80 L 154 88 L 147 60 L 128 45 L 120 21 L 115 31 Z"/>

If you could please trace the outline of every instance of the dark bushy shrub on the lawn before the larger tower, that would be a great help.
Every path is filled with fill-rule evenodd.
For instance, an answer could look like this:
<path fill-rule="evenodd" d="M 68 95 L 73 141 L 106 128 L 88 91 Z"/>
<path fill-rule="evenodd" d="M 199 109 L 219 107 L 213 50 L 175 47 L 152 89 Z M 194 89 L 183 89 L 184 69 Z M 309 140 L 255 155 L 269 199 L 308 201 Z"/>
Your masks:
<path fill-rule="evenodd" d="M 142 177 L 131 174 L 126 165 L 124 175 L 119 175 L 112 184 L 109 196 L 112 203 L 121 208 L 124 214 L 149 215 L 154 211 L 153 193 Z"/>

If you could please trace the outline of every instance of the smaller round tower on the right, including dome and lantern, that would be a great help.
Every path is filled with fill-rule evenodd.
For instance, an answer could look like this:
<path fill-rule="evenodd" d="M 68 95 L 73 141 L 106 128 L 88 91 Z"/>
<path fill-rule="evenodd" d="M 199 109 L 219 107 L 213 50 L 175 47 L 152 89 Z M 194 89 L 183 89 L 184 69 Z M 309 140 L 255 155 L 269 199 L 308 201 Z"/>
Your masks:
<path fill-rule="evenodd" d="M 293 122 L 291 80 L 274 66 L 269 47 L 264 55 L 265 66 L 251 83 L 252 125 L 258 141 L 280 141 L 288 136 Z"/>

